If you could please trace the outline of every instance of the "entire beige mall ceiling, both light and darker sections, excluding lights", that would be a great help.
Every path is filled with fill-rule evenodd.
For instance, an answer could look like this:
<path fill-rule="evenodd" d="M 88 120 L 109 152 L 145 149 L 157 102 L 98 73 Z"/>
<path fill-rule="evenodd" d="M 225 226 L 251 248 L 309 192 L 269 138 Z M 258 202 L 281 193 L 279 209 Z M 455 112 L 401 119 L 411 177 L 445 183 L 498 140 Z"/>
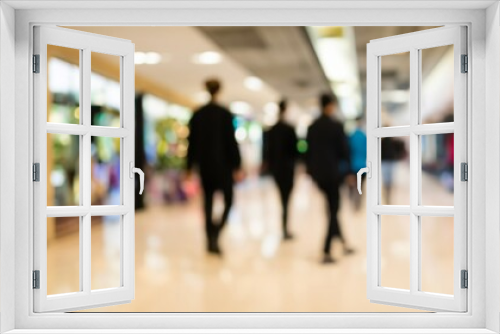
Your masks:
<path fill-rule="evenodd" d="M 318 93 L 330 90 L 317 56 L 304 27 L 71 27 L 131 40 L 136 51 L 155 51 L 162 55 L 157 65 L 136 65 L 136 76 L 147 78 L 193 101 L 202 103 L 203 81 L 218 77 L 223 82 L 223 102 L 249 103 L 259 118 L 269 102 L 282 96 L 297 102 L 298 110 L 316 107 Z M 356 59 L 362 98 L 366 90 L 366 45 L 370 40 L 411 33 L 433 27 L 389 26 L 354 28 Z M 217 51 L 222 62 L 199 65 L 193 55 Z M 432 59 L 438 62 L 442 54 L 436 50 Z M 249 76 L 263 80 L 260 90 L 245 87 Z M 405 57 L 393 57 L 384 63 L 382 84 L 389 89 L 408 89 L 409 62 Z M 364 108 L 363 108 L 364 109 Z M 298 111 L 297 111 L 298 112 Z"/>

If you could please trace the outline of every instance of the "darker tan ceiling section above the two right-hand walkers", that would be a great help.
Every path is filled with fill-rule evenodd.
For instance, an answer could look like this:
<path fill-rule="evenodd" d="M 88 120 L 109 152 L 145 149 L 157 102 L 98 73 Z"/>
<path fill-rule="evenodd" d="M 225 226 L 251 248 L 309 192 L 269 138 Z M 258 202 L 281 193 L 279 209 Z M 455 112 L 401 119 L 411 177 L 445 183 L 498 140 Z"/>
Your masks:
<path fill-rule="evenodd" d="M 304 27 L 199 27 L 226 55 L 302 107 L 330 85 Z"/>

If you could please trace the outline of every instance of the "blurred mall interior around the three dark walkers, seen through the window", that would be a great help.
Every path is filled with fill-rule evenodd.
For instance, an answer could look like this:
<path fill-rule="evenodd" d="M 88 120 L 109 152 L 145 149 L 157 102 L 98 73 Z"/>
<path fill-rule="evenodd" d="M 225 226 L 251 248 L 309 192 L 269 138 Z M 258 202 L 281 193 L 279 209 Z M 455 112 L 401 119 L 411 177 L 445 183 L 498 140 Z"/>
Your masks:
<path fill-rule="evenodd" d="M 326 230 L 323 197 L 299 161 L 290 205 L 295 238 L 283 242 L 276 186 L 261 173 L 263 133 L 289 100 L 287 121 L 307 150 L 306 131 L 319 115 L 318 95 L 339 98 L 336 117 L 347 135 L 363 129 L 366 110 L 366 45 L 370 40 L 433 27 L 69 27 L 135 43 L 136 166 L 146 174 L 136 197 L 135 299 L 92 312 L 417 312 L 370 303 L 366 297 L 366 210 L 356 210 L 341 189 L 340 221 L 355 250 L 320 263 Z M 79 122 L 79 52 L 48 49 L 49 122 Z M 381 62 L 382 122 L 409 122 L 409 54 Z M 422 121 L 453 121 L 453 48 L 422 51 Z M 57 73 L 57 75 L 56 75 Z M 188 122 L 208 100 L 203 82 L 217 77 L 222 102 L 234 114 L 235 136 L 247 176 L 223 232 L 223 257 L 206 253 L 199 183 L 184 178 Z M 118 57 L 92 54 L 92 124 L 120 124 Z M 356 119 L 360 119 L 357 123 Z M 48 135 L 48 205 L 79 203 L 79 136 Z M 387 160 L 393 178 L 382 204 L 408 204 L 408 138 Z M 384 145 L 382 145 L 384 150 Z M 389 146 L 385 146 L 389 147 Z M 382 156 L 384 153 L 382 152 Z M 384 157 L 382 157 L 384 163 Z M 453 205 L 453 135 L 422 136 L 422 201 Z M 384 183 L 385 184 L 385 183 Z M 92 204 L 120 200 L 120 140 L 92 138 Z M 357 195 L 356 195 L 357 196 Z M 216 198 L 215 211 L 221 210 Z M 409 229 L 386 217 L 382 283 L 409 286 Z M 422 285 L 452 294 L 453 219 L 422 223 Z M 441 223 L 433 224 L 432 220 Z M 385 223 L 384 223 L 385 224 Z M 48 218 L 48 293 L 79 289 L 79 224 Z M 92 218 L 92 289 L 120 285 L 119 217 Z"/>

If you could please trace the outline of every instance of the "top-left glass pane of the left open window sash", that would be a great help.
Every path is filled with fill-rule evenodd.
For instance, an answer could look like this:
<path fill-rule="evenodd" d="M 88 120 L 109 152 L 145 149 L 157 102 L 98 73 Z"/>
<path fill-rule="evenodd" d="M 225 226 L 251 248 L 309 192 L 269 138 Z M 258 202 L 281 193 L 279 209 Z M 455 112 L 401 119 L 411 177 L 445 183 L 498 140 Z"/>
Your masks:
<path fill-rule="evenodd" d="M 47 45 L 47 121 L 80 123 L 80 50 Z"/>

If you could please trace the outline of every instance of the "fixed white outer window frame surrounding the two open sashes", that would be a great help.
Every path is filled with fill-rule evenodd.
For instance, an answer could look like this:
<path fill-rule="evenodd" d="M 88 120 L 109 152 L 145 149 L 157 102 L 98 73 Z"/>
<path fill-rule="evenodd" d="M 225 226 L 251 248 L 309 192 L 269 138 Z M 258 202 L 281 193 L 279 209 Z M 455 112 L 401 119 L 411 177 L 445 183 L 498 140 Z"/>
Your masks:
<path fill-rule="evenodd" d="M 0 199 L 5 208 L 9 191 L 15 193 L 15 216 L 7 209 L 1 213 L 1 327 L 16 329 L 16 333 L 37 332 L 37 329 L 87 329 L 88 333 L 104 333 L 106 329 L 129 329 L 128 333 L 147 333 L 147 329 L 170 329 L 164 332 L 180 332 L 181 328 L 196 328 L 192 332 L 210 332 L 209 329 L 226 329 L 212 332 L 233 333 L 253 328 L 252 333 L 309 332 L 350 333 L 394 332 L 422 333 L 466 332 L 489 333 L 498 331 L 500 265 L 500 136 L 498 135 L 500 89 L 500 29 L 498 3 L 464 1 L 459 4 L 447 1 L 398 2 L 398 9 L 391 9 L 394 3 L 384 1 L 367 2 L 321 2 L 321 1 L 271 1 L 234 2 L 184 1 L 151 4 L 148 1 L 122 2 L 134 9 L 107 9 L 120 4 L 107 1 L 69 2 L 16 2 L 0 4 Z M 132 5 L 130 5 L 132 3 Z M 451 6 L 462 6 L 453 9 Z M 24 7 L 16 9 L 10 7 Z M 73 6 L 58 9 L 57 6 Z M 147 7 L 153 7 L 152 9 Z M 406 9 L 401 9 L 406 6 Z M 432 6 L 425 7 L 425 6 Z M 486 9 L 486 7 L 488 7 Z M 86 9 L 74 9 L 75 7 Z M 100 7 L 100 8 L 98 8 Z M 142 7 L 142 10 L 137 8 Z M 163 8 L 158 8 L 163 7 Z M 357 7 L 357 8 L 356 8 Z M 368 7 L 369 9 L 367 9 Z M 436 9 L 437 7 L 437 9 Z M 28 8 L 28 9 L 26 9 Z M 45 9 L 41 9 L 45 8 Z M 49 8 L 49 9 L 47 9 Z M 243 10 L 243 8 L 246 8 Z M 346 9 L 349 8 L 349 9 Z M 410 9 L 411 10 L 408 10 Z M 15 23 L 12 15 L 15 14 Z M 5 18 L 7 16 L 7 18 Z M 485 24 L 486 23 L 486 24 Z M 168 313 L 124 313 L 124 314 L 34 314 L 33 291 L 31 289 L 32 266 L 32 76 L 31 47 L 33 25 L 451 25 L 468 26 L 469 71 L 468 76 L 468 152 L 469 193 L 468 240 L 469 289 L 468 312 L 466 313 L 299 313 L 299 314 L 168 314 Z M 6 29 L 8 28 L 8 29 Z M 15 30 L 15 43 L 12 30 Z M 15 46 L 15 53 L 12 46 Z M 12 67 L 15 66 L 15 73 Z M 488 66 L 488 71 L 486 71 Z M 15 97 L 9 96 L 15 81 Z M 15 108 L 15 113 L 12 112 Z M 6 110 L 6 108 L 11 108 Z M 13 117 L 9 118 L 15 114 Z M 488 121 L 486 121 L 488 117 Z M 15 127 L 15 141 L 12 145 L 12 131 Z M 490 136 L 486 141 L 486 133 Z M 488 154 L 485 148 L 489 149 Z M 14 163 L 10 160 L 14 159 Z M 486 164 L 488 162 L 488 164 Z M 5 168 L 4 168 L 5 166 Z M 9 181 L 8 171 L 15 169 L 15 183 Z M 486 182 L 486 171 L 491 172 Z M 486 196 L 488 194 L 488 196 Z M 11 196 L 11 194 L 10 194 Z M 486 204 L 485 204 L 486 202 Z M 486 216 L 486 213 L 488 214 Z M 6 220 L 5 218 L 14 220 Z M 488 219 L 486 219 L 486 217 Z M 488 252 L 486 251 L 488 250 Z M 12 256 L 14 261 L 12 261 Z M 26 261 L 29 259 L 29 261 Z M 15 283 L 14 283 L 15 282 Z M 9 284 L 6 286 L 6 284 Z M 14 289 L 13 289 L 14 287 Z M 13 290 L 13 291 L 9 291 Z M 488 293 L 486 293 L 486 290 Z M 5 293 L 4 293 L 5 292 Z M 12 307 L 14 305 L 14 307 Z M 137 331 L 130 330 L 131 328 Z M 260 328 L 260 330 L 259 330 Z M 302 328 L 293 331 L 293 328 Z M 384 330 L 380 330 L 385 328 Z M 206 329 L 206 331 L 204 331 Z M 229 330 L 233 329 L 233 330 Z M 269 330 L 263 330 L 269 329 Z M 306 330 L 307 329 L 307 330 Z M 358 329 L 358 330 L 355 330 Z M 379 329 L 377 331 L 377 329 Z M 392 330 L 390 330 L 392 329 Z M 433 330 L 429 330 L 433 329 Z M 460 329 L 465 329 L 460 331 Z M 121 331 L 118 331 L 121 332 Z M 163 331 L 162 331 L 163 332 Z M 186 333 L 186 331 L 183 331 Z M 190 331 L 191 332 L 191 331 Z"/>

